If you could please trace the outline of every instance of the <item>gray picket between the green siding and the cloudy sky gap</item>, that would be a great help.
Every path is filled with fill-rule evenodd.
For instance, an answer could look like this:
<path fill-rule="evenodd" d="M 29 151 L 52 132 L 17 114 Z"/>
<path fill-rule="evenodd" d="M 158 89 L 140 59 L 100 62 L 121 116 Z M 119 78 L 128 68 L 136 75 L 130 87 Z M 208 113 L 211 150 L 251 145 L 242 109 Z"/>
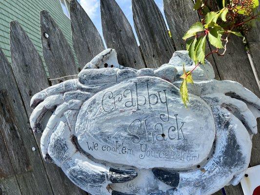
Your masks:
<path fill-rule="evenodd" d="M 73 46 L 82 69 L 105 46 L 96 26 L 77 0 L 70 1 L 70 19 Z"/>

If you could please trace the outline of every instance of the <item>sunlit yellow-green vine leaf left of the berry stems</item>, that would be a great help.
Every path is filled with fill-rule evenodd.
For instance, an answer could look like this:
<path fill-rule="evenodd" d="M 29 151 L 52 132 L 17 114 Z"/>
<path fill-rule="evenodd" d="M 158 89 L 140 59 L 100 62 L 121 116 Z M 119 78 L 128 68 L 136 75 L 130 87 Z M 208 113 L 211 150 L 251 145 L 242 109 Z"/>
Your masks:
<path fill-rule="evenodd" d="M 214 47 L 217 48 L 224 48 L 222 45 L 222 33 L 224 32 L 224 30 L 221 27 L 213 27 L 210 29 L 209 33 L 208 33 L 208 38 L 209 38 L 209 42 L 210 44 L 212 44 Z"/>

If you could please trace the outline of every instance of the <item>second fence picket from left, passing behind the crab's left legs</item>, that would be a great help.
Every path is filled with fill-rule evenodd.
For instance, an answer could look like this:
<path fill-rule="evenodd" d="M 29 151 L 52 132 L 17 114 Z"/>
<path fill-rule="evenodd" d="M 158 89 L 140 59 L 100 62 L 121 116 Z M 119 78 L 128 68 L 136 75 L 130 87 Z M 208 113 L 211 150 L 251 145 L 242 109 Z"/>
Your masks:
<path fill-rule="evenodd" d="M 40 55 L 17 21 L 11 22 L 10 46 L 14 75 L 18 82 L 27 115 L 30 116 L 32 113 L 30 107 L 32 95 L 49 87 L 46 73 Z M 41 135 L 36 134 L 35 136 L 40 147 Z M 57 166 L 54 164 L 44 165 L 55 195 L 86 194 L 76 187 Z"/>

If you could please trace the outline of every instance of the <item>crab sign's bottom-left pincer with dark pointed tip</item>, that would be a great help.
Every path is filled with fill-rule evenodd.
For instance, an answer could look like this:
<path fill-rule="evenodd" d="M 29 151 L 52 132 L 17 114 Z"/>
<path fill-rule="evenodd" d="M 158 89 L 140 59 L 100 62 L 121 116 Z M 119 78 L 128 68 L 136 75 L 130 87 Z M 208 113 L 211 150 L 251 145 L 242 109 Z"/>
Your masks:
<path fill-rule="evenodd" d="M 65 161 L 61 169 L 81 189 L 92 195 L 111 195 L 109 184 L 122 183 L 137 177 L 131 170 L 117 170 L 86 159 L 80 153 Z"/>

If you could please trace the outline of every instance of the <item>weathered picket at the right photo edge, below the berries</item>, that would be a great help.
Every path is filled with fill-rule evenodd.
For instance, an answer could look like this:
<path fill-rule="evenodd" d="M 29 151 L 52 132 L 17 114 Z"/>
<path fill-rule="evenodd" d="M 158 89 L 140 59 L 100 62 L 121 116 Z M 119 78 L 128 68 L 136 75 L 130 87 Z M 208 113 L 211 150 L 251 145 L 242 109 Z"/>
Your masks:
<path fill-rule="evenodd" d="M 260 12 L 260 7 L 258 8 L 258 12 Z M 260 80 L 260 21 L 256 21 L 256 26 L 251 29 L 251 31 L 246 36 L 250 54 L 253 59 L 254 66 L 257 71 L 258 79 Z"/>

